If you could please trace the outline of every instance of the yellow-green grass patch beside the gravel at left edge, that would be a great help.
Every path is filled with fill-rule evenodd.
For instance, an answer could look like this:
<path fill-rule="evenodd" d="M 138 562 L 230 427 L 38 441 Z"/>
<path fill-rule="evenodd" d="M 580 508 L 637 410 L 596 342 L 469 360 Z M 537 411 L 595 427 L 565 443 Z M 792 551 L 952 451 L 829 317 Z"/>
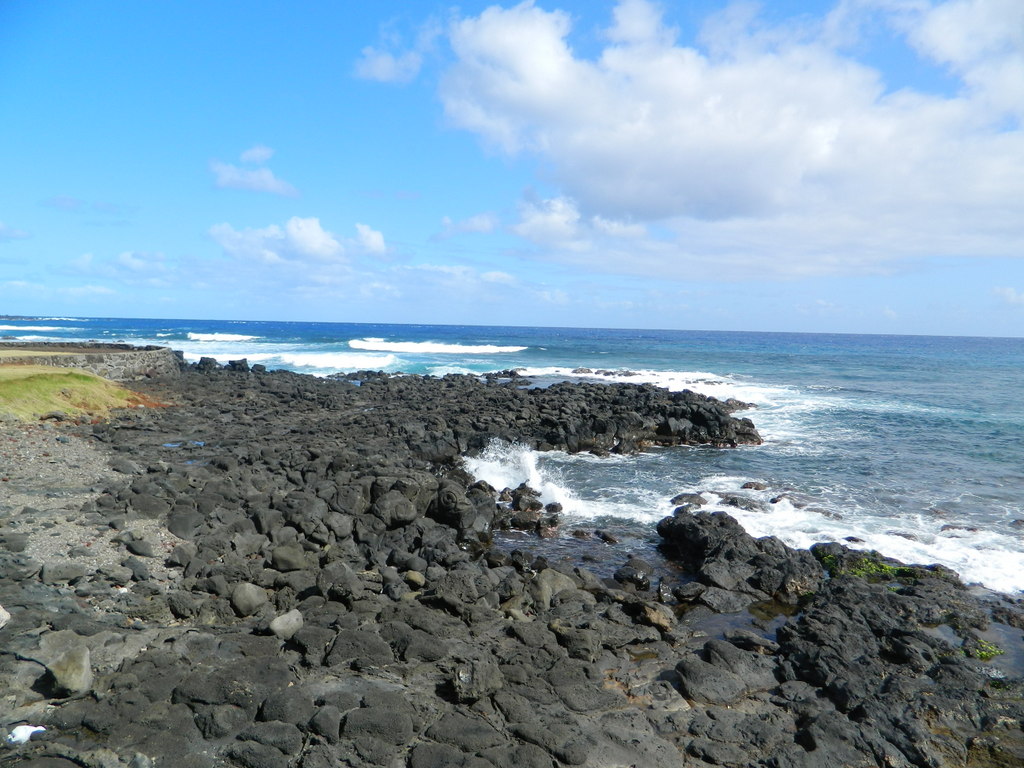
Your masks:
<path fill-rule="evenodd" d="M 70 418 L 100 419 L 113 409 L 157 404 L 85 371 L 0 366 L 0 414 L 26 421 L 57 411 Z"/>

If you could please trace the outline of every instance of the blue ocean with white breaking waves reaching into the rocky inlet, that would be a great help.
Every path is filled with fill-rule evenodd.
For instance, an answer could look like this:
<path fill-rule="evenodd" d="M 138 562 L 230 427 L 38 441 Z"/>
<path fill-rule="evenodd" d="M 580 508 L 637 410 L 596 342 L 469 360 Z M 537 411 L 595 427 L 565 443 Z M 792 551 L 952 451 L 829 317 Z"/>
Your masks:
<path fill-rule="evenodd" d="M 699 492 L 754 536 L 840 541 L 1024 591 L 1024 339 L 86 317 L 0 318 L 0 336 L 161 344 L 317 376 L 519 369 L 534 386 L 590 378 L 736 397 L 755 406 L 742 415 L 764 444 L 604 459 L 494 444 L 468 465 L 563 505 L 559 539 L 520 542 L 542 554 L 656 557 L 671 499 Z M 570 532 L 594 529 L 620 540 L 613 552 Z"/>

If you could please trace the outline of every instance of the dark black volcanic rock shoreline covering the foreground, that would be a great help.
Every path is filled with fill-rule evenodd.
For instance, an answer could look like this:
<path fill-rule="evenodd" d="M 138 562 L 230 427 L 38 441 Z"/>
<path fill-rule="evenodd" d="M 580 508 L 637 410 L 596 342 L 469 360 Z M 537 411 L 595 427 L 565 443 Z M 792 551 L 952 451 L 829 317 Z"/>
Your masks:
<path fill-rule="evenodd" d="M 947 569 L 755 540 L 699 497 L 658 525 L 672 572 L 496 546 L 559 520 L 468 475 L 492 439 L 760 441 L 739 403 L 505 373 L 205 360 L 133 385 L 166 409 L 5 426 L 79 464 L 5 485 L 81 493 L 0 508 L 2 725 L 46 728 L 0 765 L 1024 764 L 1024 683 L 993 660 L 1024 609 Z"/>

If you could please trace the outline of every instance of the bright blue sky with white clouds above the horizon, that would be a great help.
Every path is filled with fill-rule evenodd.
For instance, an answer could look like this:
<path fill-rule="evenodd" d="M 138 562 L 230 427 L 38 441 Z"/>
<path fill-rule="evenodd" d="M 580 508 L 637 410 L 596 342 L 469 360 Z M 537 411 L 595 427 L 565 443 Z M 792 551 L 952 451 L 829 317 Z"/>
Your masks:
<path fill-rule="evenodd" d="M 3 0 L 0 313 L 1024 336 L 1024 2 Z"/>

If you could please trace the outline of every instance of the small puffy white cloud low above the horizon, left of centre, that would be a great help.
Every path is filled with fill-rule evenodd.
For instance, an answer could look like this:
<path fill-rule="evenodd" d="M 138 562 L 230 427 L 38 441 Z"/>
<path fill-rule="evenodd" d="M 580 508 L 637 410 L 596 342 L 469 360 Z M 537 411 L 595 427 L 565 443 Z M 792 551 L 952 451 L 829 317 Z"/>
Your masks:
<path fill-rule="evenodd" d="M 267 264 L 284 261 L 342 259 L 344 247 L 315 217 L 293 216 L 284 227 L 236 229 L 226 222 L 210 227 L 210 237 L 229 256 Z"/>

